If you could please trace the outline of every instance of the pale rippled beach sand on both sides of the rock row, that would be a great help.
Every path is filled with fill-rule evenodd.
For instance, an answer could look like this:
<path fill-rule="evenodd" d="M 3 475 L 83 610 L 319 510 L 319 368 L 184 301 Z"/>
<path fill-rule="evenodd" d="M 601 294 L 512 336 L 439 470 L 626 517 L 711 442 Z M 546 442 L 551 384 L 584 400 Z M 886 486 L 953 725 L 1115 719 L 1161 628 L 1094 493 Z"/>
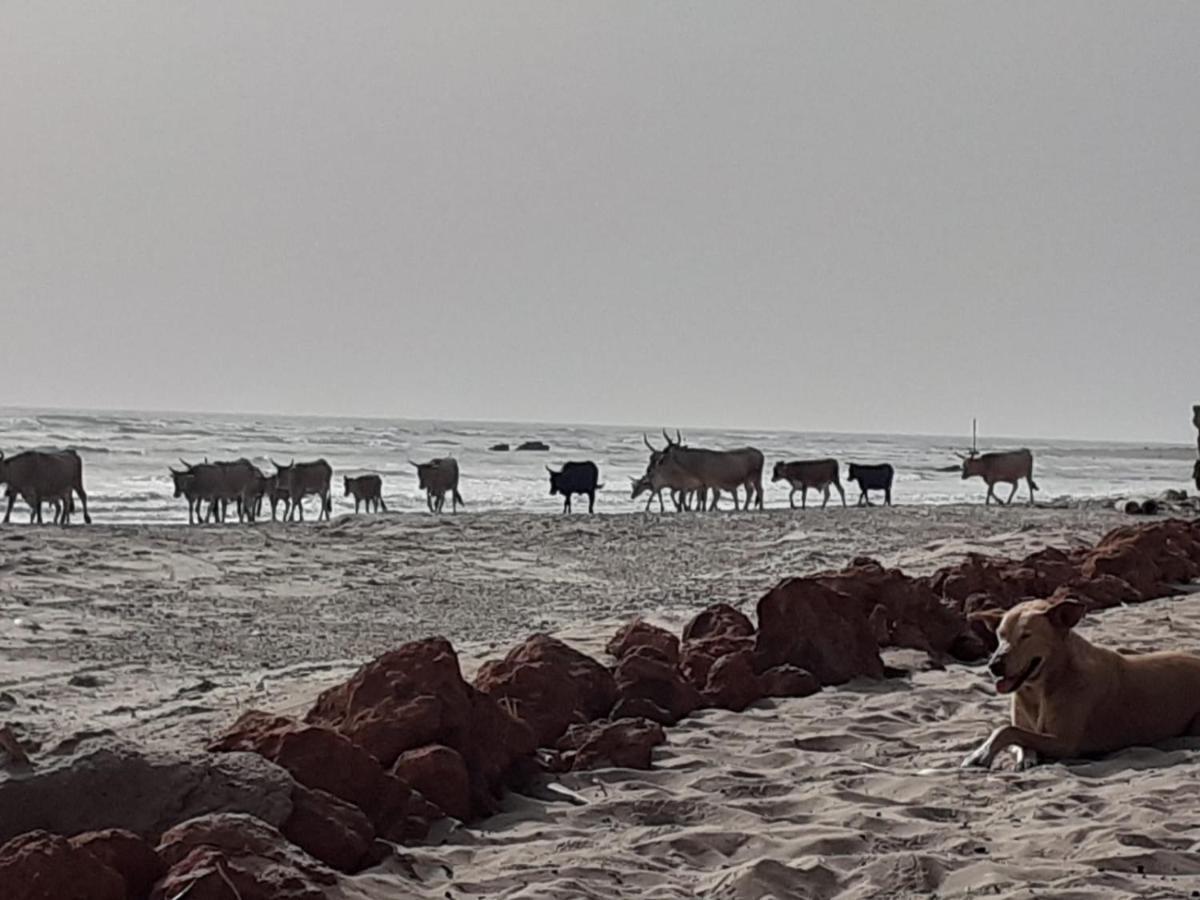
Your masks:
<path fill-rule="evenodd" d="M 0 721 L 35 746 L 108 728 L 196 749 L 250 708 L 302 713 L 428 635 L 469 673 L 534 631 L 604 659 L 616 628 L 752 616 L 790 575 L 871 556 L 911 574 L 967 551 L 1092 544 L 1111 510 L 340 518 L 328 526 L 0 530 Z M 1098 643 L 1200 650 L 1200 598 L 1085 620 Z M 856 682 L 667 731 L 650 772 L 565 775 L 353 880 L 362 898 L 1189 896 L 1196 750 L 962 772 L 1007 706 L 980 668 L 889 653 Z M 1006 758 L 1002 766 L 1010 763 Z M 352 894 L 347 894 L 348 896 Z M 1196 894 L 1200 896 L 1200 894 Z"/>

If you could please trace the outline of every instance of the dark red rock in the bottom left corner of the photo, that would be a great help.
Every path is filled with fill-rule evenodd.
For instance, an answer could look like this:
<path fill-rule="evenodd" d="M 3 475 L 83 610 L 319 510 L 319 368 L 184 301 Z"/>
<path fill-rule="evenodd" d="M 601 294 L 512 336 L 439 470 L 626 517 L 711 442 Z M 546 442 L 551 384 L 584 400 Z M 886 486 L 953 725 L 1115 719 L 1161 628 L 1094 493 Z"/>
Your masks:
<path fill-rule="evenodd" d="M 4 900 L 125 900 L 114 869 L 48 832 L 29 832 L 0 846 Z"/>

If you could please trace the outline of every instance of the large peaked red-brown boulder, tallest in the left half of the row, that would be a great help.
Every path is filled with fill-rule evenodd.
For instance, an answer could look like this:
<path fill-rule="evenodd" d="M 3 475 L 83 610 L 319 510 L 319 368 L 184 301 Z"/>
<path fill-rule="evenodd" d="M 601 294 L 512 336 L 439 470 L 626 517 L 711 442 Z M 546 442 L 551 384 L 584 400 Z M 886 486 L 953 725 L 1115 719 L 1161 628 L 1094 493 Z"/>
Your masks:
<path fill-rule="evenodd" d="M 536 739 L 496 698 L 467 684 L 440 637 L 414 641 L 324 691 L 305 720 L 341 732 L 385 768 L 427 744 L 457 750 L 467 764 L 472 812 L 490 815 L 510 774 L 524 768 Z"/>

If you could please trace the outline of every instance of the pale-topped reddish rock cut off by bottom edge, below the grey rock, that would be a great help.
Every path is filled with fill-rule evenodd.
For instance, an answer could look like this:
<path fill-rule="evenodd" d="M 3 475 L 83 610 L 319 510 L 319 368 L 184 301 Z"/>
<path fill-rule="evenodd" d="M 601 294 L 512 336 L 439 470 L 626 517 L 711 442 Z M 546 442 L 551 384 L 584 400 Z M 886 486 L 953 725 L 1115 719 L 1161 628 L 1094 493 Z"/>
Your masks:
<path fill-rule="evenodd" d="M 187 900 L 326 900 L 341 895 L 336 872 L 252 816 L 222 814 L 182 822 L 162 836 L 158 856 L 168 871 L 155 888 L 154 900 L 181 894 Z"/>

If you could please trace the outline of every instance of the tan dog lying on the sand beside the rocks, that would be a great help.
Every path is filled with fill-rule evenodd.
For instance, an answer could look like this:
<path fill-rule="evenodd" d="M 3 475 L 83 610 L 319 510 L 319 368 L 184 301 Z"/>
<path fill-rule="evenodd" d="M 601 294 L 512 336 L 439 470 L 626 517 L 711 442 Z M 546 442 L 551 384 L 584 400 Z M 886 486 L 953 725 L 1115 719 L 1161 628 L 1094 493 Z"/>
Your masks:
<path fill-rule="evenodd" d="M 1013 724 L 996 728 L 964 766 L 991 766 L 1015 748 L 1018 768 L 1038 756 L 1069 760 L 1200 734 L 1200 656 L 1124 656 L 1072 629 L 1084 617 L 1075 600 L 1028 600 L 997 622 L 1000 646 L 988 662 L 996 690 L 1013 695 Z"/>

